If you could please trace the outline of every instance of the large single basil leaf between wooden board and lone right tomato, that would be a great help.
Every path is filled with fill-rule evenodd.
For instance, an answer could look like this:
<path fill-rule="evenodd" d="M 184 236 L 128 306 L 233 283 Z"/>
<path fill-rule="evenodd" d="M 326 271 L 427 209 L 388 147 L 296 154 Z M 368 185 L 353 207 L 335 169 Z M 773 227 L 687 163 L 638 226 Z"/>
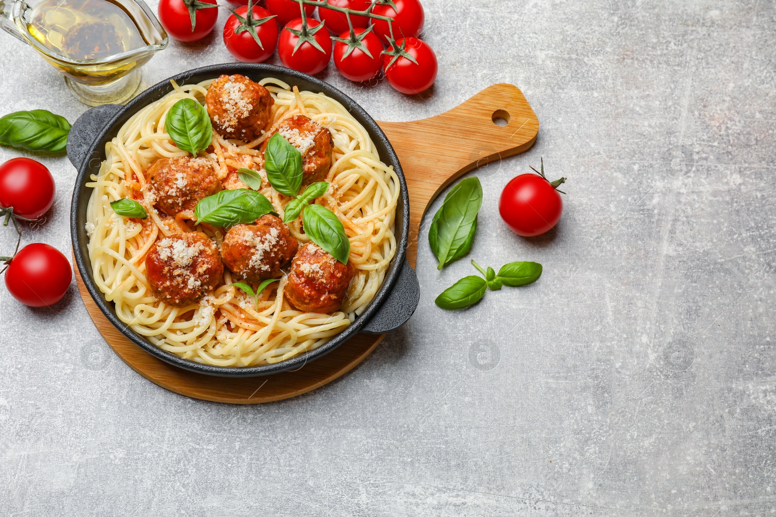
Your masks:
<path fill-rule="evenodd" d="M 437 269 L 469 253 L 482 204 L 483 188 L 476 177 L 460 181 L 445 196 L 428 229 L 428 243 L 439 261 Z"/>

